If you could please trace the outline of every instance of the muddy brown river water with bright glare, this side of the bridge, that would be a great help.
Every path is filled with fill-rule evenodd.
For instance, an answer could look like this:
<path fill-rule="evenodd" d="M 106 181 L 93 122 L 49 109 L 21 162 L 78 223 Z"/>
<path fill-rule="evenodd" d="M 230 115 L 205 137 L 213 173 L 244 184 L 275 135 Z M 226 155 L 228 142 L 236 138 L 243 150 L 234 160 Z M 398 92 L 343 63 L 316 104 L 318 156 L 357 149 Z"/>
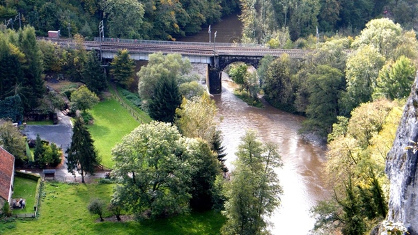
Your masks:
<path fill-rule="evenodd" d="M 234 153 L 246 129 L 256 129 L 261 140 L 276 143 L 284 162 L 283 168 L 277 169 L 284 195 L 281 206 L 270 218 L 274 225 L 272 234 L 308 234 L 314 227 L 309 209 L 327 196 L 320 179 L 325 152 L 297 133 L 303 117 L 268 105 L 265 108 L 248 106 L 231 93 L 233 84 L 223 80 L 222 85 L 222 95 L 213 99 L 219 116 L 224 118 L 219 129 L 224 134 L 228 152 L 226 165 L 231 169 L 231 162 L 236 158 Z"/>

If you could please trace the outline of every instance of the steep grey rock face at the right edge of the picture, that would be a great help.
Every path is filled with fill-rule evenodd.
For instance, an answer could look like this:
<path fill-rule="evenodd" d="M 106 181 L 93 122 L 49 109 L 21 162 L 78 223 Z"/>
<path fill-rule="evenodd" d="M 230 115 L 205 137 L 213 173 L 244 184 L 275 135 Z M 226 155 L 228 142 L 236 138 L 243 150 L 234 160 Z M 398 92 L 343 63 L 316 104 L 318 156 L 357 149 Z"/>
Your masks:
<path fill-rule="evenodd" d="M 408 232 L 415 235 L 418 234 L 418 152 L 405 150 L 408 145 L 414 145 L 410 140 L 418 142 L 418 76 L 386 160 L 386 174 L 390 181 L 387 220 L 403 222 Z"/>

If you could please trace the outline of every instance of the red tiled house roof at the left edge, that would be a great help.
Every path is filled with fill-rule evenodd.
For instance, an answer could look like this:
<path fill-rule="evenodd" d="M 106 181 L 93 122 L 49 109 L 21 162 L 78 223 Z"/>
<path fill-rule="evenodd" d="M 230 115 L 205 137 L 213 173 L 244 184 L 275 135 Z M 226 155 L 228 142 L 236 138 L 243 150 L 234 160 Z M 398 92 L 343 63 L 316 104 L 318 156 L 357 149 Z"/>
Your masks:
<path fill-rule="evenodd" d="M 15 157 L 0 147 L 0 197 L 3 197 L 6 201 L 10 193 L 14 162 Z"/>

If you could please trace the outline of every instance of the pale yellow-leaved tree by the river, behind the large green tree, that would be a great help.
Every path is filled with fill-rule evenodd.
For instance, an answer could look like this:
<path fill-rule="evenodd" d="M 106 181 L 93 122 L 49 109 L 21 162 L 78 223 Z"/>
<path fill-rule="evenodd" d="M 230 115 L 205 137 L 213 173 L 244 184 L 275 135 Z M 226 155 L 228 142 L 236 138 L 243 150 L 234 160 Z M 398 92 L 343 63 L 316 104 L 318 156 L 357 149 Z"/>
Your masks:
<path fill-rule="evenodd" d="M 216 115 L 215 101 L 206 93 L 192 100 L 183 98 L 180 108 L 176 110 L 176 125 L 183 136 L 201 138 L 210 143 L 217 127 Z"/>

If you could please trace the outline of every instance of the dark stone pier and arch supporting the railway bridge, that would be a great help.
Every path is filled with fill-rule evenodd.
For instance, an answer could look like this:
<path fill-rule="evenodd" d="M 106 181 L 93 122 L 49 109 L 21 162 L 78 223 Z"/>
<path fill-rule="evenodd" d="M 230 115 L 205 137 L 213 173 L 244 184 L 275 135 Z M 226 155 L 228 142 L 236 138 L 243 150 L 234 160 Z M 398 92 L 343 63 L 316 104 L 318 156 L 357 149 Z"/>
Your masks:
<path fill-rule="evenodd" d="M 208 64 L 208 74 L 206 75 L 206 84 L 210 94 L 217 95 L 222 93 L 222 71 L 226 66 L 234 62 L 243 62 L 257 69 L 261 58 L 263 56 L 212 56 L 210 64 Z"/>

